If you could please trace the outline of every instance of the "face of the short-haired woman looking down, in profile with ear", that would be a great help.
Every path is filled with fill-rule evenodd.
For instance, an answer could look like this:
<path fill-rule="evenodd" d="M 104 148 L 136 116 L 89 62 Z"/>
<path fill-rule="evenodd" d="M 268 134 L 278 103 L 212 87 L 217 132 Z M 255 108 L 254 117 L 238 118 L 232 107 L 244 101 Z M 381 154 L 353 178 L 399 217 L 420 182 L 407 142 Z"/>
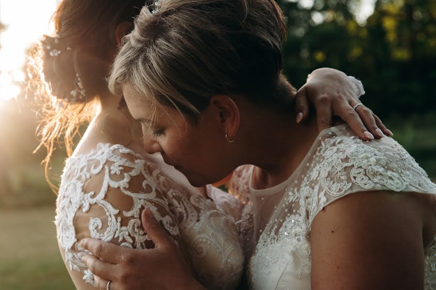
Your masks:
<path fill-rule="evenodd" d="M 127 86 L 123 94 L 130 113 L 142 125 L 146 151 L 160 152 L 164 161 L 183 173 L 193 186 L 217 182 L 233 170 L 225 149 L 225 133 L 213 109 L 202 112 L 193 126 L 177 110 L 155 108 Z"/>

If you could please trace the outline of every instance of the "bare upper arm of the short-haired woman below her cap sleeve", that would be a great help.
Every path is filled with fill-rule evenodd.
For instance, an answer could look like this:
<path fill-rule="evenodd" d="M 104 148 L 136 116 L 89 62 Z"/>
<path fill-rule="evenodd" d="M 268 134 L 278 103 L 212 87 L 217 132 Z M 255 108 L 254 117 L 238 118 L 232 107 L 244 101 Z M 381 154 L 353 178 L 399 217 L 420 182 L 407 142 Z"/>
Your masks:
<path fill-rule="evenodd" d="M 311 225 L 312 289 L 422 289 L 423 244 L 436 232 L 434 200 L 373 191 L 321 210 Z"/>

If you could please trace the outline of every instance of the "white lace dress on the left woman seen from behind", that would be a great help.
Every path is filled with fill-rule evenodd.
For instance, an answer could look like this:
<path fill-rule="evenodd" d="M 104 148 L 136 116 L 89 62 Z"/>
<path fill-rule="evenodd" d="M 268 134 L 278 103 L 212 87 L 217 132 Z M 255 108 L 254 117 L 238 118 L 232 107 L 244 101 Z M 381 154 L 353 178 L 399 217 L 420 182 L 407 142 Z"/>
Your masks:
<path fill-rule="evenodd" d="M 235 289 L 239 285 L 244 257 L 233 218 L 132 150 L 99 144 L 91 153 L 66 161 L 57 198 L 58 242 L 78 289 L 94 283 L 80 259 L 85 253 L 79 245 L 83 238 L 138 249 L 153 246 L 140 222 L 144 207 L 151 209 L 176 242 L 184 243 L 205 287 Z"/>

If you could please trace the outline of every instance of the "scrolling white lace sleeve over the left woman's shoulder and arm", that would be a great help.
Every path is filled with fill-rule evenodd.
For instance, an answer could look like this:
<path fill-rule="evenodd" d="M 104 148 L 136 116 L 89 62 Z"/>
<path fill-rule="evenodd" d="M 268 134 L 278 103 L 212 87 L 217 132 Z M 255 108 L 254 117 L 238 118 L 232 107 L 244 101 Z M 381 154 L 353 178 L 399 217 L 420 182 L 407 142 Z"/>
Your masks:
<path fill-rule="evenodd" d="M 57 200 L 58 242 L 67 268 L 82 272 L 85 282 L 93 284 L 93 274 L 80 260 L 85 253 L 79 245 L 83 238 L 129 248 L 153 247 L 140 222 L 144 207 L 176 242 L 181 241 L 177 217 L 151 166 L 124 148 L 109 145 L 67 162 Z"/>

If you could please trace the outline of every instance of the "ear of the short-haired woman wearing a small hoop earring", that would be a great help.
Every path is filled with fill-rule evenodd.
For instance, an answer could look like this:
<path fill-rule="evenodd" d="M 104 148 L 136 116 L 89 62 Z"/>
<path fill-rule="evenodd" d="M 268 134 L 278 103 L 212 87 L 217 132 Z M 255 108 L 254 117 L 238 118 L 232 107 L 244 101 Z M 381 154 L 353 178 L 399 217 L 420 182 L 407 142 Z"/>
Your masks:
<path fill-rule="evenodd" d="M 226 95 L 211 97 L 209 106 L 212 106 L 218 113 L 219 123 L 225 134 L 235 137 L 239 128 L 240 113 L 234 100 Z"/>

